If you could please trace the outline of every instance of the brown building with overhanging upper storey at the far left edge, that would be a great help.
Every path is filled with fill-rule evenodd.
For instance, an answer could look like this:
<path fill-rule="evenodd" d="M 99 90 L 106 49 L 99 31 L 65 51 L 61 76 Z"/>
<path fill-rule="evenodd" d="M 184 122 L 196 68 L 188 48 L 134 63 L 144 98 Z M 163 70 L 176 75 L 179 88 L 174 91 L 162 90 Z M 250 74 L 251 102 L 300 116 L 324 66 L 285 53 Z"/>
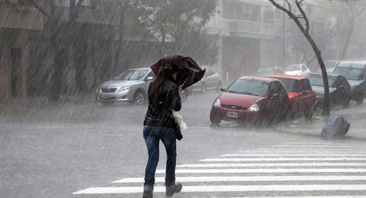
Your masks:
<path fill-rule="evenodd" d="M 27 3 L 0 0 L 0 18 L 0 100 L 25 98 L 30 35 L 43 30 L 43 15 Z"/>

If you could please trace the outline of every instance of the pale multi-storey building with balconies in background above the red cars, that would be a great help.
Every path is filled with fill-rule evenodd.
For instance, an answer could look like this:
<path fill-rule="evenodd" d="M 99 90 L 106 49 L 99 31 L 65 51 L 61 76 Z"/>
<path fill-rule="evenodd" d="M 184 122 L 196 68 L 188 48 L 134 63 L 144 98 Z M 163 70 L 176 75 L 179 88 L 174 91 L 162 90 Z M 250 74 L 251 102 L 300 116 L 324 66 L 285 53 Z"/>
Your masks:
<path fill-rule="evenodd" d="M 283 14 L 267 0 L 218 0 L 207 30 L 220 35 L 218 67 L 228 82 L 284 63 Z"/>

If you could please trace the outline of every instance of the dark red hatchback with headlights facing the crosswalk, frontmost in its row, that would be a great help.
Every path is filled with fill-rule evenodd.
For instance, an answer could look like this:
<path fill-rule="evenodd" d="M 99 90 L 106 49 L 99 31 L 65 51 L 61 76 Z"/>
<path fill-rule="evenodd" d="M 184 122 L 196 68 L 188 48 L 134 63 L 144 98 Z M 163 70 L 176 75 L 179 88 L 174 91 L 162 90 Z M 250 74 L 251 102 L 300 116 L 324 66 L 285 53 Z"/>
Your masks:
<path fill-rule="evenodd" d="M 285 88 L 273 78 L 244 76 L 222 91 L 210 113 L 214 125 L 222 120 L 266 125 L 285 119 L 290 110 Z"/>

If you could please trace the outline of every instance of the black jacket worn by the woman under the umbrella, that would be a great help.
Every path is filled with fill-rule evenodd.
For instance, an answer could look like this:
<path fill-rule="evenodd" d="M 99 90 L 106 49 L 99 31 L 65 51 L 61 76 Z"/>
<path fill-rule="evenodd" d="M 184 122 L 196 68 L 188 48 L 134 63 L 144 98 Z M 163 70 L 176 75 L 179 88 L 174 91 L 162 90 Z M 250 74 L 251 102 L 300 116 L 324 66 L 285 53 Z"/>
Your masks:
<path fill-rule="evenodd" d="M 180 111 L 182 107 L 178 85 L 171 80 L 165 80 L 159 94 L 151 93 L 151 85 L 152 83 L 148 92 L 149 106 L 143 124 L 177 128 L 172 112 Z"/>

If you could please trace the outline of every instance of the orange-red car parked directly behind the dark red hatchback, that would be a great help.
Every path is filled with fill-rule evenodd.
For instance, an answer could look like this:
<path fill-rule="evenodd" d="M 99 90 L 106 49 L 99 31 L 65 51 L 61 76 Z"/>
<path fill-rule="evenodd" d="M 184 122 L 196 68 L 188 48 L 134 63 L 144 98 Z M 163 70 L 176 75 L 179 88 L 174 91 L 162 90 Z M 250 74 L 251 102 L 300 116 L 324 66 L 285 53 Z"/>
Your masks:
<path fill-rule="evenodd" d="M 280 74 L 269 77 L 280 80 L 284 85 L 294 115 L 304 114 L 306 118 L 313 116 L 317 95 L 307 77 Z"/>

